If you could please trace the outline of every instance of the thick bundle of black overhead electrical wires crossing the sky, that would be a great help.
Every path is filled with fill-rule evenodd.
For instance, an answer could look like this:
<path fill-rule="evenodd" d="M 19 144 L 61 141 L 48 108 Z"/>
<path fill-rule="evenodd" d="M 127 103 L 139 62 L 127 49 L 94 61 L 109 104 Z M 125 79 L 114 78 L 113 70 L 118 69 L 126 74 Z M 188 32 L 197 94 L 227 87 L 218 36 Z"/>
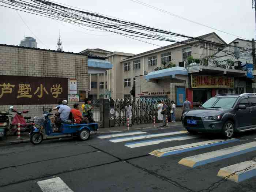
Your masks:
<path fill-rule="evenodd" d="M 139 41 L 143 41 L 141 39 L 168 41 L 178 44 L 191 45 L 199 49 L 212 50 L 214 53 L 218 51 L 224 52 L 227 55 L 234 53 L 233 45 L 212 42 L 198 37 L 190 37 L 188 35 L 157 29 L 127 20 L 105 16 L 95 12 L 74 9 L 71 6 L 64 6 L 46 0 L 0 0 L 0 5 L 3 7 L 12 8 L 14 10 L 71 23 L 75 26 L 89 27 L 99 31 L 108 31 L 120 34 Z M 205 46 L 205 44 L 214 44 L 214 47 Z M 242 56 L 248 57 L 252 54 L 249 52 L 251 49 L 244 47 L 237 48 L 239 48 Z"/>

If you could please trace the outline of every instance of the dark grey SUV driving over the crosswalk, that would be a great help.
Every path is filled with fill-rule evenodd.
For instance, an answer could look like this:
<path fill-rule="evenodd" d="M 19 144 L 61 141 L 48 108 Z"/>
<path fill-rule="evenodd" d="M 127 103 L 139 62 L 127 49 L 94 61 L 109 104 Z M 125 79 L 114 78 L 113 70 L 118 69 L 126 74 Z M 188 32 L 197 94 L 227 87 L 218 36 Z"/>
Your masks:
<path fill-rule="evenodd" d="M 222 133 L 226 139 L 235 132 L 256 129 L 256 93 L 216 95 L 202 107 L 185 112 L 182 124 L 190 133 Z"/>

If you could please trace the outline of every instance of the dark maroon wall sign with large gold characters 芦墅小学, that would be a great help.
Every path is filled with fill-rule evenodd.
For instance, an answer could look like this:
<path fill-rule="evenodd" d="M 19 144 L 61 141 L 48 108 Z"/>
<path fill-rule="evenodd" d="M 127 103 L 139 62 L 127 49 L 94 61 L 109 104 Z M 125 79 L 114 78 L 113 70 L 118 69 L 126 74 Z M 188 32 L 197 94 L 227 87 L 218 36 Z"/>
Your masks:
<path fill-rule="evenodd" d="M 68 98 L 68 79 L 0 76 L 0 105 L 56 104 Z"/>

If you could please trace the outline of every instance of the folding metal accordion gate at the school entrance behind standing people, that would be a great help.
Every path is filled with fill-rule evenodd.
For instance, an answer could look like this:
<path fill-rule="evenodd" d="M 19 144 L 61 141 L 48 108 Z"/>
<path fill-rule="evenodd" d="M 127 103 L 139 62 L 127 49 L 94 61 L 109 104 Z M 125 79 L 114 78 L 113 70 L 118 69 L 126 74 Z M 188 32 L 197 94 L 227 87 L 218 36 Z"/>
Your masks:
<path fill-rule="evenodd" d="M 130 103 L 132 106 L 132 124 L 145 124 L 145 123 L 153 123 L 153 118 L 157 120 L 158 116 L 158 101 L 165 101 L 167 108 L 167 117 L 168 121 L 170 121 L 170 99 L 111 99 L 110 103 L 114 104 L 114 117 L 112 120 L 114 121 L 114 126 L 125 125 L 126 123 L 126 112 L 125 106 L 127 103 Z"/>

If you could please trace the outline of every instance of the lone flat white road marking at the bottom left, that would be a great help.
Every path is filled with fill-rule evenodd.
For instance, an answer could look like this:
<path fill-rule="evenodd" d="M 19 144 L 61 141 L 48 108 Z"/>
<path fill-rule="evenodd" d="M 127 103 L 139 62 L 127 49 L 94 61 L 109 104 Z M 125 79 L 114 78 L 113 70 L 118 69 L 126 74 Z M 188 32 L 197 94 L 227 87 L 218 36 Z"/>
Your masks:
<path fill-rule="evenodd" d="M 73 192 L 60 177 L 38 181 L 43 192 Z"/>

